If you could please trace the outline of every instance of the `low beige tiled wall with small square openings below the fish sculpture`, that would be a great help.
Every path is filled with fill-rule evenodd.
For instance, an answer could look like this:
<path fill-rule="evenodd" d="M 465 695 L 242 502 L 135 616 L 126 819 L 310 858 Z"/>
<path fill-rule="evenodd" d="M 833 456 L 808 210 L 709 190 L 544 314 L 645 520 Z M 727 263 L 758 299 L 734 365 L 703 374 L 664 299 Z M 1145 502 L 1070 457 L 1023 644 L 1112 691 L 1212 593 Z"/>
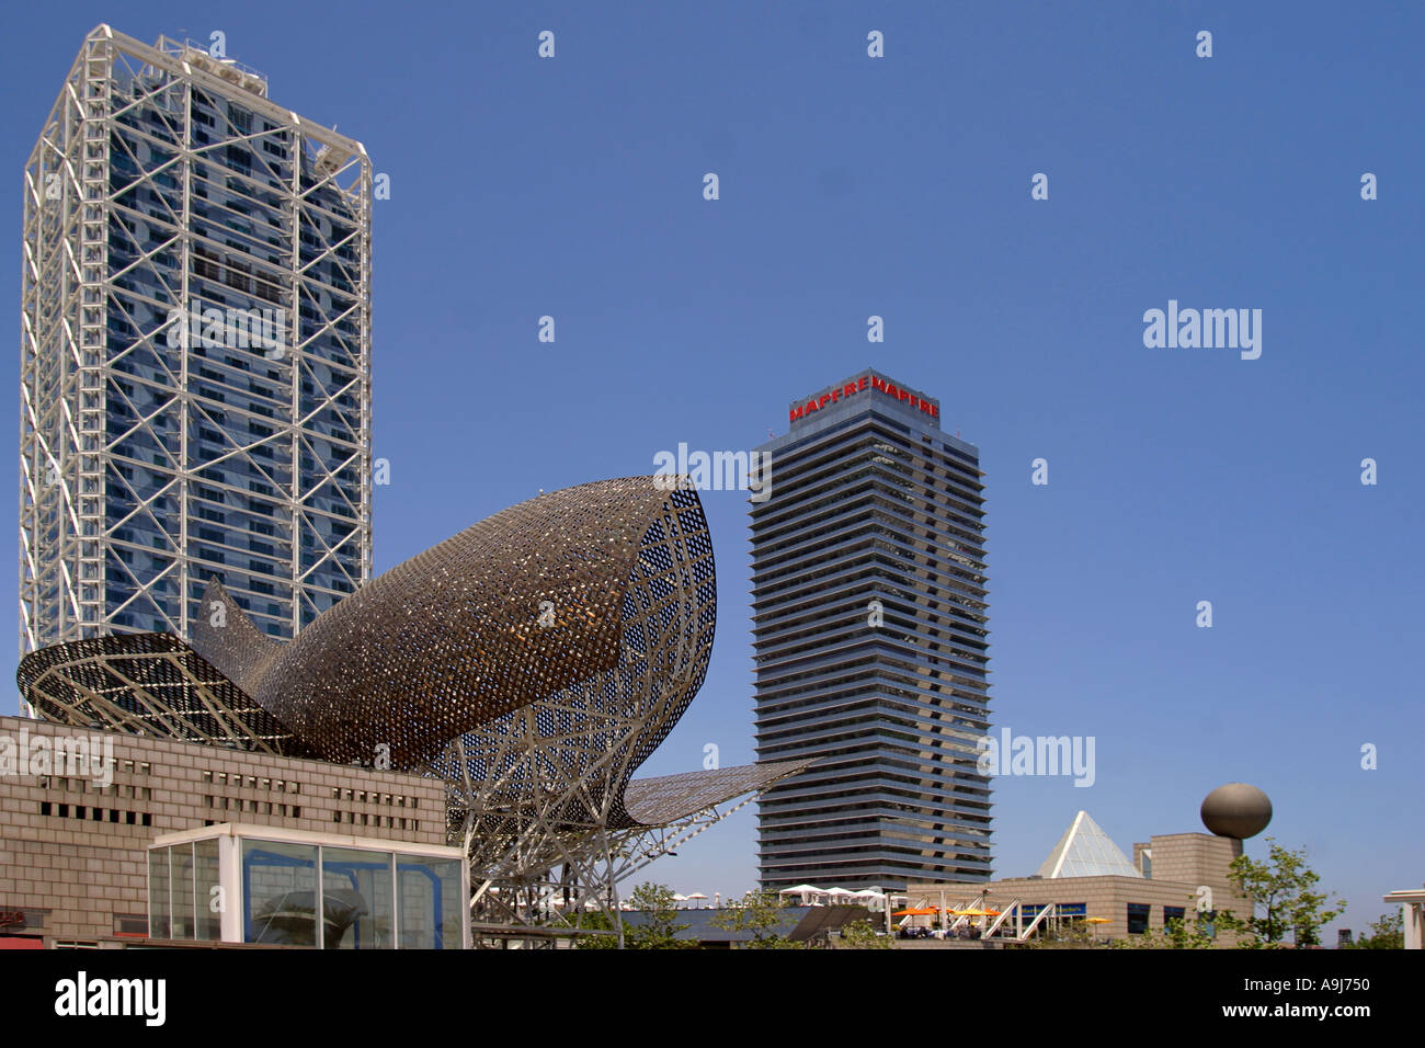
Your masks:
<path fill-rule="evenodd" d="M 0 717 L 3 740 L 113 743 L 108 786 L 0 774 L 0 935 L 93 942 L 147 927 L 145 850 L 215 823 L 445 844 L 445 786 L 396 771 Z M 11 750 L 13 753 L 13 750 Z M 0 754 L 3 756 L 3 754 Z"/>

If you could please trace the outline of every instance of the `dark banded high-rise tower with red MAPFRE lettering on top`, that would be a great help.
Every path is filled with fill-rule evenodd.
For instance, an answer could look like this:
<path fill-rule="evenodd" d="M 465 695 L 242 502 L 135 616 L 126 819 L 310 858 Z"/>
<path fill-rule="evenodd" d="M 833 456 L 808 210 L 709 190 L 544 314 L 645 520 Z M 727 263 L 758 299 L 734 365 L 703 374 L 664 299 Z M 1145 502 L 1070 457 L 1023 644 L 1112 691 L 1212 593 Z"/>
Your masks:
<path fill-rule="evenodd" d="M 979 451 L 865 369 L 789 408 L 751 508 L 764 888 L 903 887 L 990 870 Z"/>

